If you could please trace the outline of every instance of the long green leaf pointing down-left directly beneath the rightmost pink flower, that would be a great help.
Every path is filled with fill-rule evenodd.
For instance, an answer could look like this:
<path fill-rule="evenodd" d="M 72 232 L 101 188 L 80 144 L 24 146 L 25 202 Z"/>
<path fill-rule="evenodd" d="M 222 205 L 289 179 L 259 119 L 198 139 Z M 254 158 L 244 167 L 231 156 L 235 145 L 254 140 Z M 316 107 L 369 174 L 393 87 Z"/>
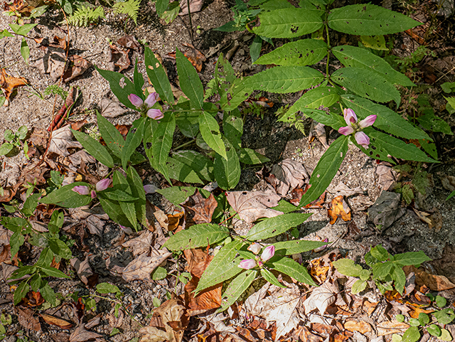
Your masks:
<path fill-rule="evenodd" d="M 331 183 L 336 172 L 340 169 L 346 152 L 348 151 L 348 137 L 341 136 L 328 147 L 321 156 L 316 169 L 311 174 L 311 188 L 302 196 L 299 208 L 319 198 Z"/>

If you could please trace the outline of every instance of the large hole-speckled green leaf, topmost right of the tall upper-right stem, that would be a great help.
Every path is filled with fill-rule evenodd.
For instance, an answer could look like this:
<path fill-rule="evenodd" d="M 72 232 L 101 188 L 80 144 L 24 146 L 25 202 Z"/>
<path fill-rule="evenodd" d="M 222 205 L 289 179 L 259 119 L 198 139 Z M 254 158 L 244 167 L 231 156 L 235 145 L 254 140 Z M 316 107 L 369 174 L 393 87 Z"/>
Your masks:
<path fill-rule="evenodd" d="M 343 6 L 331 10 L 328 27 L 356 36 L 375 36 L 406 31 L 422 25 L 408 16 L 372 4 Z"/>

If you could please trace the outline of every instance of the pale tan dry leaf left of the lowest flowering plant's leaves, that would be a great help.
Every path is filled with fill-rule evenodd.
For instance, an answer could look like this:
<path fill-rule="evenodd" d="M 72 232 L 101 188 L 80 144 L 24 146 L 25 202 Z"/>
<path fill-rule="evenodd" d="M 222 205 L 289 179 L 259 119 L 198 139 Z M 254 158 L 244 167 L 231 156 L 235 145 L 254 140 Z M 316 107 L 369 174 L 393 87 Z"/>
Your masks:
<path fill-rule="evenodd" d="M 139 257 L 127 264 L 127 267 L 122 271 L 122 278 L 126 282 L 132 282 L 133 280 L 151 282 L 151 272 L 171 255 L 172 253 L 167 250 L 156 250 L 153 248 L 150 257 L 147 257 L 146 254 L 139 255 Z"/>

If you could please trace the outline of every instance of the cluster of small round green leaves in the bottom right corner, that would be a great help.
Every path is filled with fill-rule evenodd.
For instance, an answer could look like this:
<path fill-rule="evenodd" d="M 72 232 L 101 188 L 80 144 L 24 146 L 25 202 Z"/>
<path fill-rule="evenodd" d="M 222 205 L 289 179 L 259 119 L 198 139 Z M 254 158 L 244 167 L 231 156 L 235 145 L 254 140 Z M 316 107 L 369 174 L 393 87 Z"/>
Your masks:
<path fill-rule="evenodd" d="M 433 296 L 427 294 L 434 301 L 435 306 L 443 308 L 447 301 L 442 296 Z M 398 314 L 395 319 L 399 322 L 405 321 L 405 316 Z M 421 312 L 418 319 L 410 319 L 407 323 L 410 325 L 403 336 L 398 334 L 392 335 L 392 342 L 417 342 L 420 340 L 421 331 L 427 331 L 430 335 L 437 337 L 441 341 L 452 341 L 451 333 L 447 329 L 442 328 L 446 324 L 450 324 L 455 319 L 453 309 L 446 308 L 439 311 L 434 311 L 431 314 Z M 438 325 L 440 324 L 440 325 Z"/>

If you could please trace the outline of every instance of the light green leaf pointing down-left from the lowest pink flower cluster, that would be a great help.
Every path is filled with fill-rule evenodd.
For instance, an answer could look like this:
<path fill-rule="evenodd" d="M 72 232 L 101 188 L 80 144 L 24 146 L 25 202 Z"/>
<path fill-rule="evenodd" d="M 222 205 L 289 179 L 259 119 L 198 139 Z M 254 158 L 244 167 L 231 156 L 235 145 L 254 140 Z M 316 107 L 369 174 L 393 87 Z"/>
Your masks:
<path fill-rule="evenodd" d="M 235 258 L 240 247 L 242 247 L 242 242 L 232 241 L 218 251 L 210 264 L 208 264 L 202 277 L 200 277 L 195 291 L 196 294 L 203 289 L 220 284 L 220 282 L 224 282 L 242 271 L 238 267 L 240 258 Z"/>

